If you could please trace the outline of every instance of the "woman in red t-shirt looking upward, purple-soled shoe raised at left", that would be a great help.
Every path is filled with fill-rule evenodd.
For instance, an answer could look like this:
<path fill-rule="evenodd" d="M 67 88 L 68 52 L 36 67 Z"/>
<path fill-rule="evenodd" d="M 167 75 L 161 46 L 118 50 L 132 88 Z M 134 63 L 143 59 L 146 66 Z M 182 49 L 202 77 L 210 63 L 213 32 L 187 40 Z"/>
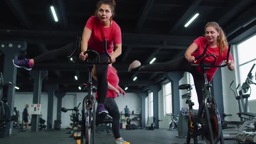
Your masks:
<path fill-rule="evenodd" d="M 83 55 L 88 47 L 93 49 L 100 55 L 100 62 L 115 62 L 115 58 L 121 55 L 121 29 L 114 20 L 115 15 L 115 0 L 99 0 L 97 3 L 97 9 L 95 10 L 95 16 L 91 16 L 85 25 L 82 35 L 81 50 L 79 55 L 81 60 L 87 58 L 87 54 Z M 111 59 L 104 53 L 103 39 L 107 39 L 108 53 L 112 54 Z M 35 63 L 47 62 L 50 60 L 56 60 L 59 58 L 65 58 L 71 53 L 74 53 L 76 43 L 70 43 L 59 49 L 45 52 L 33 59 L 14 59 L 13 64 L 18 68 L 24 68 L 31 70 Z M 108 92 L 107 71 L 108 65 L 96 65 L 97 77 L 98 77 L 98 114 L 106 114 L 108 111 L 104 107 L 104 101 Z"/>

